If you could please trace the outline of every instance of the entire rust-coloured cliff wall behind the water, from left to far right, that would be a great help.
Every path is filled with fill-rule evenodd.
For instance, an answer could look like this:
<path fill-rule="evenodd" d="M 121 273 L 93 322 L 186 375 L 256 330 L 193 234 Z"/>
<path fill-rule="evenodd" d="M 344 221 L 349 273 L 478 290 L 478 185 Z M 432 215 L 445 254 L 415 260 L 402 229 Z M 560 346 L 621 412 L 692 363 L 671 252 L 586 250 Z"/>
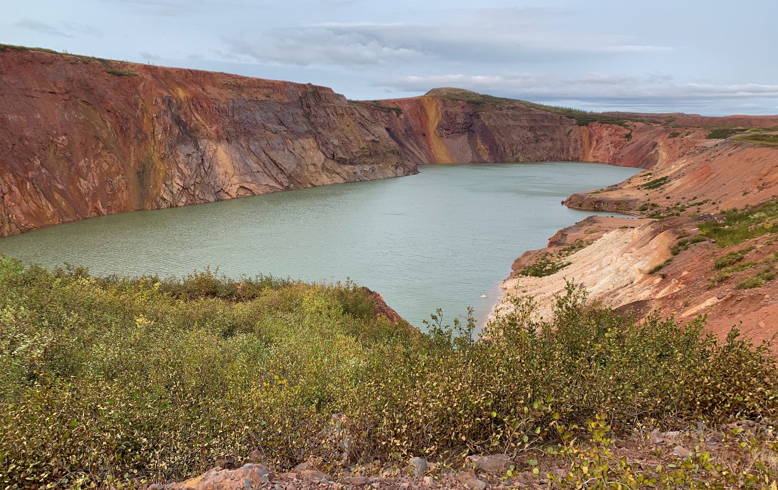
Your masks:
<path fill-rule="evenodd" d="M 422 163 L 650 168 L 705 149 L 705 126 L 778 125 L 778 117 L 621 113 L 595 117 L 617 124 L 579 125 L 557 109 L 461 89 L 352 102 L 321 86 L 0 45 L 0 236 L 398 177 Z"/>

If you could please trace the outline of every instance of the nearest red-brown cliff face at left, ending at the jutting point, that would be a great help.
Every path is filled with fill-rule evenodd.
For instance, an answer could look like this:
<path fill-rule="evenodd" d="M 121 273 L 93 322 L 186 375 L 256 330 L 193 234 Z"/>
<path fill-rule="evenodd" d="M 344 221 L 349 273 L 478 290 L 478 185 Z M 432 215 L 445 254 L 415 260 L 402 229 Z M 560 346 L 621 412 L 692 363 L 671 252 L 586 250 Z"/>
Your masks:
<path fill-rule="evenodd" d="M 331 89 L 0 51 L 0 234 L 415 173 Z"/>

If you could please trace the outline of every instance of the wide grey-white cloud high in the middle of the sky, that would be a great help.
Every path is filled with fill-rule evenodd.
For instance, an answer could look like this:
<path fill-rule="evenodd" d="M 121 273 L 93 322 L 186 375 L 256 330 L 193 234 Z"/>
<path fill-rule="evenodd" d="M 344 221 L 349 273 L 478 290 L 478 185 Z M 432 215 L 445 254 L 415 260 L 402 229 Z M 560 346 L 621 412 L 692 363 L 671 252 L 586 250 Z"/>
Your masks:
<path fill-rule="evenodd" d="M 447 11 L 429 23 L 320 23 L 226 39 L 233 53 L 264 63 L 357 69 L 408 61 L 517 62 L 669 51 L 626 37 L 570 30 L 569 12 Z"/>

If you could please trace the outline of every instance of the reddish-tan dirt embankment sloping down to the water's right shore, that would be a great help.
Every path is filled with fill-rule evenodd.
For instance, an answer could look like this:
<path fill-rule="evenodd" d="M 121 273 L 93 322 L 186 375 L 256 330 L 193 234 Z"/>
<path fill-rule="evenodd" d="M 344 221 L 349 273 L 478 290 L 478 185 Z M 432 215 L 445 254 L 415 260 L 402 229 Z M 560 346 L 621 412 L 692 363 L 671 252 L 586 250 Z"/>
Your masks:
<path fill-rule="evenodd" d="M 681 321 L 706 314 L 707 331 L 724 335 L 738 325 L 748 338 L 766 340 L 778 332 L 776 198 L 775 147 L 724 141 L 657 163 L 565 201 L 643 219 L 591 217 L 564 229 L 547 248 L 517 259 L 503 289 L 534 295 L 538 316 L 548 316 L 550 299 L 569 280 L 623 314 L 661 311 Z M 731 208 L 739 214 L 721 214 Z M 555 272 L 529 275 L 539 275 L 527 267 L 541 259 Z"/>

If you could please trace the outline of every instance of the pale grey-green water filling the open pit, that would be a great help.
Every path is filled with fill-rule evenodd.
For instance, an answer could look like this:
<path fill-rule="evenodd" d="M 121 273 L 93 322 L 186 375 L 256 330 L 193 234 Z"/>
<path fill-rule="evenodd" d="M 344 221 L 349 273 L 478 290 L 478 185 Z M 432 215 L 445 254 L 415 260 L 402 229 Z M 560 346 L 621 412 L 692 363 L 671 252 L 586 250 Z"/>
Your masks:
<path fill-rule="evenodd" d="M 0 239 L 0 252 L 94 274 L 184 275 L 206 266 L 335 281 L 380 292 L 421 327 L 443 308 L 485 318 L 525 250 L 596 213 L 569 194 L 638 169 L 600 163 L 436 164 L 418 175 L 313 187 L 183 208 L 102 216 Z M 485 298 L 481 298 L 486 295 Z"/>

